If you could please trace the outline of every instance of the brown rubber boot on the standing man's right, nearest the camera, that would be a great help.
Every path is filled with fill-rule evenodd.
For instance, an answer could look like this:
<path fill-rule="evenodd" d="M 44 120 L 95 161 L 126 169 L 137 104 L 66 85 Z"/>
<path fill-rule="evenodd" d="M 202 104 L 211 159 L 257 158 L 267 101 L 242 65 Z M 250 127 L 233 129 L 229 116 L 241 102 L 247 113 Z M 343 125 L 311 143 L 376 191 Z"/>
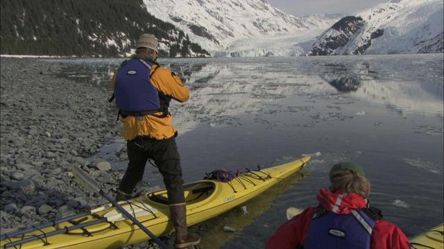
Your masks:
<path fill-rule="evenodd" d="M 187 231 L 187 207 L 185 203 L 169 205 L 171 219 L 176 229 L 176 248 L 186 248 L 200 243 L 199 234 L 190 234 Z"/>

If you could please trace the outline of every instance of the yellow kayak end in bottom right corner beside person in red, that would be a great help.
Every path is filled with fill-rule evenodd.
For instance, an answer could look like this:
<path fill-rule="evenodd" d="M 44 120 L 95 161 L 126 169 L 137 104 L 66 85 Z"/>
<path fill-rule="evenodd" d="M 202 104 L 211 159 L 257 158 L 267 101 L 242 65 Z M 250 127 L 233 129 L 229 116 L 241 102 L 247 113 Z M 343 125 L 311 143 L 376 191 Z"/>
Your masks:
<path fill-rule="evenodd" d="M 409 239 L 412 246 L 417 249 L 423 248 L 444 248 L 444 223 L 423 232 L 422 234 L 416 235 L 415 237 Z"/>

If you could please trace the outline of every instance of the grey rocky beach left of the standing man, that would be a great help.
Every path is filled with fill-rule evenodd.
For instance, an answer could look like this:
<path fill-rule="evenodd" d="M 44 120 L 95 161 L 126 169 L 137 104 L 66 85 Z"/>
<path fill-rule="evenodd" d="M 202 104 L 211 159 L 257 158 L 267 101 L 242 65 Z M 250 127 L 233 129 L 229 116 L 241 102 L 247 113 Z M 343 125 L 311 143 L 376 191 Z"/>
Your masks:
<path fill-rule="evenodd" d="M 110 196 L 123 176 L 102 158 L 87 160 L 121 134 L 111 91 L 58 77 L 65 66 L 1 57 L 1 234 L 107 203 L 78 184 L 71 167 Z M 125 149 L 115 151 L 123 161 Z"/>

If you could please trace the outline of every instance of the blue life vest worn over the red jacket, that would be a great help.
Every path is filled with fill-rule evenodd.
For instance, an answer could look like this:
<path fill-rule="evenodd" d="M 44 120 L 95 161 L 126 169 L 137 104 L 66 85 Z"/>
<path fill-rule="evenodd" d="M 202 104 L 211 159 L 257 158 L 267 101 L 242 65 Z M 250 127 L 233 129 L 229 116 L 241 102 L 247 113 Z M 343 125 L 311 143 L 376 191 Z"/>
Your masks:
<path fill-rule="evenodd" d="M 316 210 L 304 249 L 370 249 L 375 223 L 364 210 L 353 210 L 350 214 Z"/>

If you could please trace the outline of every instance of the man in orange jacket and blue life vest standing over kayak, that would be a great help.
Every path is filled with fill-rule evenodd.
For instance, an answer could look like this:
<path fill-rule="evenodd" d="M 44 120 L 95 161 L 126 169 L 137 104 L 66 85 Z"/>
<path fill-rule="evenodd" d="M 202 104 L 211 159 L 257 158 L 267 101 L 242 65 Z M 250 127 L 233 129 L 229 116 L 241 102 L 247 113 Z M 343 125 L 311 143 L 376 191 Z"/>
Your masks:
<path fill-rule="evenodd" d="M 178 131 L 171 125 L 173 117 L 168 108 L 171 99 L 187 101 L 189 90 L 177 75 L 155 62 L 157 45 L 154 35 L 140 36 L 135 55 L 123 62 L 112 77 L 111 88 L 123 122 L 129 159 L 115 199 L 130 198 L 144 176 L 146 162 L 154 160 L 167 188 L 176 248 L 186 248 L 197 245 L 200 237 L 187 232 L 182 167 L 175 140 Z"/>

